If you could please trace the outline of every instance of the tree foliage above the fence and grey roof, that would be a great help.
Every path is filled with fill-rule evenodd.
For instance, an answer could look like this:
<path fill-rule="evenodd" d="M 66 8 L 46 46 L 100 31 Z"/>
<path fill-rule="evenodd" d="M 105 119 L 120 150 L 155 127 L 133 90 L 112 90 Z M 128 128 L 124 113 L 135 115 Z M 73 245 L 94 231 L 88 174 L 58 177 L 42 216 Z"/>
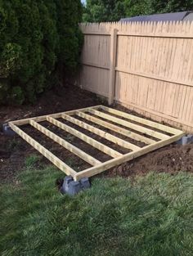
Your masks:
<path fill-rule="evenodd" d="M 116 21 L 124 17 L 190 11 L 193 0 L 88 0 L 83 21 Z"/>

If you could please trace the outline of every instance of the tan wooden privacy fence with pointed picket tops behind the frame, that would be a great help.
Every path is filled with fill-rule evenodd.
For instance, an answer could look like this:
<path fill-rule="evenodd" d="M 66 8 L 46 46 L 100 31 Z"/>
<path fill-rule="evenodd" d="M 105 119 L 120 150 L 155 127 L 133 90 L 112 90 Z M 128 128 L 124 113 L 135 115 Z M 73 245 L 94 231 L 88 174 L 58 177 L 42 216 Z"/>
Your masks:
<path fill-rule="evenodd" d="M 193 23 L 80 25 L 82 88 L 193 132 Z"/>

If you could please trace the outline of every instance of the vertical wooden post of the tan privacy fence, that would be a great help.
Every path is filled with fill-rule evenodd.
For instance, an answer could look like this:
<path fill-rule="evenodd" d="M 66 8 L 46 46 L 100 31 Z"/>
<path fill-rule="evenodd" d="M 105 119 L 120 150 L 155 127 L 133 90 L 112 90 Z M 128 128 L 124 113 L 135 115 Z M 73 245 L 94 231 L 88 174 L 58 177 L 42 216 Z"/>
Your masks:
<path fill-rule="evenodd" d="M 113 29 L 110 34 L 110 82 L 108 103 L 111 105 L 114 102 L 114 80 L 115 80 L 115 65 L 117 54 L 117 32 L 118 29 Z"/>

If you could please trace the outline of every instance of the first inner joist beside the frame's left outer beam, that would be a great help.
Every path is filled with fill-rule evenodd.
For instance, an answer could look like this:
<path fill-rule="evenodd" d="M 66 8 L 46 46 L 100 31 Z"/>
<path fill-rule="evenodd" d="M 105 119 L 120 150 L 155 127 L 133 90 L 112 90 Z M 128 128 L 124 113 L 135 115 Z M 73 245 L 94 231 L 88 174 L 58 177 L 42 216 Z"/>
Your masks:
<path fill-rule="evenodd" d="M 43 134 L 51 138 L 56 143 L 60 144 L 61 146 L 64 146 L 66 150 L 69 150 L 70 152 L 74 153 L 74 155 L 79 156 L 88 164 L 91 164 L 91 165 L 101 164 L 101 161 L 93 158 L 91 155 L 88 155 L 86 152 L 84 152 L 83 150 L 80 150 L 76 146 L 73 146 L 68 141 L 65 141 L 61 137 L 57 136 L 54 132 L 49 131 L 47 128 L 44 128 L 42 125 L 38 124 L 34 120 L 29 120 L 29 124 L 31 124 L 34 128 L 37 128 L 38 131 L 43 132 Z"/>

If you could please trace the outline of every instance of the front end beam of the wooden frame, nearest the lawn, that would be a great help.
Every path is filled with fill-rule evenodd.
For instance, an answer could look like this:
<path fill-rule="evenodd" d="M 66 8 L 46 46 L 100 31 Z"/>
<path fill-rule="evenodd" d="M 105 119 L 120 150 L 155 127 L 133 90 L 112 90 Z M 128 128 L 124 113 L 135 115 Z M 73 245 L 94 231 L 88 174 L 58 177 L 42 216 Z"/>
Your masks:
<path fill-rule="evenodd" d="M 106 161 L 104 164 L 100 164 L 96 167 L 88 168 L 86 170 L 83 170 L 82 172 L 79 172 L 75 175 L 74 180 L 79 181 L 80 178 L 82 177 L 92 177 L 98 173 L 104 172 L 105 170 L 114 167 L 115 165 L 122 164 L 124 162 L 127 162 L 129 160 L 135 159 L 138 156 L 145 155 L 146 153 L 159 149 L 162 146 L 166 146 L 173 141 L 177 141 L 183 136 L 183 132 L 181 134 L 174 135 L 173 137 L 170 137 L 167 140 L 163 141 L 157 141 L 154 144 L 145 146 L 141 148 L 141 150 L 135 151 L 135 152 L 130 152 L 126 155 L 123 155 L 117 159 L 110 159 L 109 161 Z"/>

